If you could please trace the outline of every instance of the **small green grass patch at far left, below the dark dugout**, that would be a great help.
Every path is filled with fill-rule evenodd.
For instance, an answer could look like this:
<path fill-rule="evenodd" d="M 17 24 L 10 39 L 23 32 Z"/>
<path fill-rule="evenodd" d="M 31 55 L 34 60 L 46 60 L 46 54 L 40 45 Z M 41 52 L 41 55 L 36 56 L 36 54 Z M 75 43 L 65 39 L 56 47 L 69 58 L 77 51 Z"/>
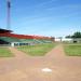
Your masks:
<path fill-rule="evenodd" d="M 12 57 L 13 54 L 8 48 L 0 48 L 0 57 Z"/>

